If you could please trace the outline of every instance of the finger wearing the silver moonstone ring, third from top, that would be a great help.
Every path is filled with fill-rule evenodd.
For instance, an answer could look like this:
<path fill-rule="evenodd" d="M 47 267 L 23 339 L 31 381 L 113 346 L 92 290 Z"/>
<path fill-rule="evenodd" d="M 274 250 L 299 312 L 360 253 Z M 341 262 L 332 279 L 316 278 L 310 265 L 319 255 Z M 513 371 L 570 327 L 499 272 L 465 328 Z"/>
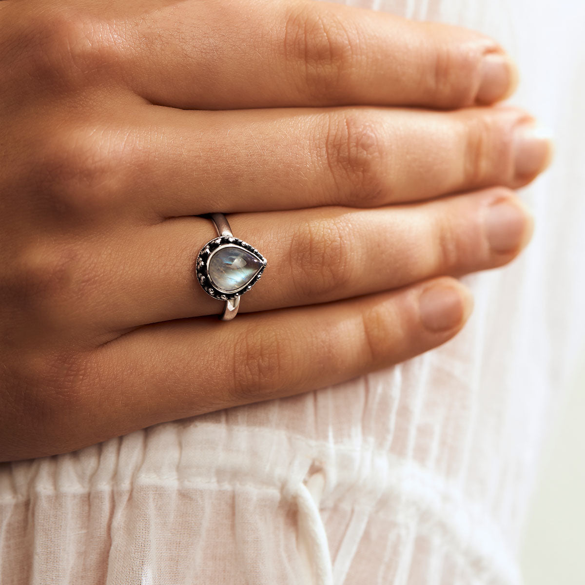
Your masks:
<path fill-rule="evenodd" d="M 504 188 L 426 204 L 323 207 L 228 219 L 234 235 L 268 260 L 261 281 L 244 295 L 240 312 L 340 300 L 501 266 L 515 257 L 531 232 L 524 206 Z M 93 278 L 93 287 L 86 286 L 83 294 L 74 288 L 70 292 L 93 308 L 85 314 L 98 315 L 94 325 L 110 332 L 218 314 L 221 302 L 201 289 L 194 270 L 199 249 L 215 235 L 206 218 L 144 226 L 137 237 L 126 238 L 125 246 L 108 247 L 115 257 L 107 274 Z M 119 235 L 114 237 L 119 242 Z M 91 271 L 92 263 L 87 266 Z M 62 302 L 72 305 L 69 298 Z"/>

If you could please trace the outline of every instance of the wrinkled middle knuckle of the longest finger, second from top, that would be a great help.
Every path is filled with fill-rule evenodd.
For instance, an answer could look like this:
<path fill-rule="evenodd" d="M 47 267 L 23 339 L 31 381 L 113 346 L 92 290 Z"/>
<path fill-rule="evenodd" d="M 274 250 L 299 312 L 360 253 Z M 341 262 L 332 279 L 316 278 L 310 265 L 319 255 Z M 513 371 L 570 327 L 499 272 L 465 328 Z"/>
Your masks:
<path fill-rule="evenodd" d="M 336 186 L 335 197 L 355 207 L 383 204 L 383 140 L 380 130 L 357 113 L 330 115 L 318 148 Z"/>

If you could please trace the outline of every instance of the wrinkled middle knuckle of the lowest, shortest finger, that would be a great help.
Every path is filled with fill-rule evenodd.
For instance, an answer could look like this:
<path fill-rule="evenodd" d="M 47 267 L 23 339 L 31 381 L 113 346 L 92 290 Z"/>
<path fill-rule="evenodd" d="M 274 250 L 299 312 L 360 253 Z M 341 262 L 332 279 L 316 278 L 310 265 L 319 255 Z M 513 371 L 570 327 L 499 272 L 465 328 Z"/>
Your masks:
<path fill-rule="evenodd" d="M 290 340 L 274 326 L 250 327 L 233 353 L 232 394 L 236 403 L 267 400 L 290 378 Z"/>

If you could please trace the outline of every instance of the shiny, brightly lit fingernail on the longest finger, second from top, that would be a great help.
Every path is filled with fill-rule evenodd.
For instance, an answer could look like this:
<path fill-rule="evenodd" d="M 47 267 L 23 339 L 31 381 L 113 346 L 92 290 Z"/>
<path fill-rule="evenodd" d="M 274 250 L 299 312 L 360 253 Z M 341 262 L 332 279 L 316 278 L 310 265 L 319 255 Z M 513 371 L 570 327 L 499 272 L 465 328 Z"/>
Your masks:
<path fill-rule="evenodd" d="M 516 177 L 526 179 L 543 171 L 552 158 L 550 132 L 534 123 L 518 126 L 514 136 Z"/>

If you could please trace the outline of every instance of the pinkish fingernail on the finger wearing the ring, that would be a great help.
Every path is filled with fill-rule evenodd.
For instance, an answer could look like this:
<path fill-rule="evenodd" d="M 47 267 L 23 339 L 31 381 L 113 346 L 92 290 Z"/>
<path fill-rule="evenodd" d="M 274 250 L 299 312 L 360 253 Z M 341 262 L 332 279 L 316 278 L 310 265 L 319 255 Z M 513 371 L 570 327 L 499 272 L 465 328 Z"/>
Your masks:
<path fill-rule="evenodd" d="M 525 238 L 528 216 L 524 209 L 510 200 L 500 199 L 486 208 L 484 222 L 491 249 L 512 252 Z"/>

